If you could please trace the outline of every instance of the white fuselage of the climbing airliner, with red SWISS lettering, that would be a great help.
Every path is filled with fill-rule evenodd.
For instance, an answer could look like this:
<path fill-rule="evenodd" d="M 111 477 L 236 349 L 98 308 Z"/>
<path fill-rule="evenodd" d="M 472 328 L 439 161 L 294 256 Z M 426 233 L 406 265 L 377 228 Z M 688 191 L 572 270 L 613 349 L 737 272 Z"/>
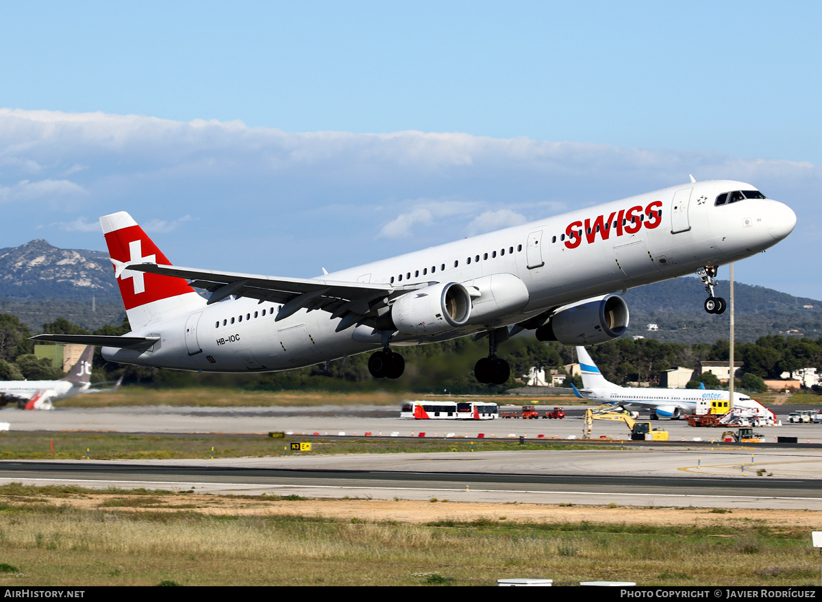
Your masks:
<path fill-rule="evenodd" d="M 482 294 L 473 299 L 474 307 L 491 303 L 477 312 L 478 317 L 473 318 L 472 310 L 469 322 L 445 334 L 395 336 L 391 344 L 453 339 L 522 322 L 548 308 L 580 299 L 692 274 L 702 266 L 723 265 L 769 248 L 795 223 L 787 206 L 769 199 L 714 206 L 714 198 L 721 192 L 752 188 L 728 181 L 665 188 L 323 278 L 476 286 Z M 681 191 L 686 190 L 690 190 L 690 202 L 683 203 Z M 680 196 L 675 197 L 678 191 Z M 629 213 L 632 207 L 642 211 Z M 634 225 L 632 216 L 637 220 Z M 582 237 L 570 239 L 570 231 L 581 232 Z M 494 289 L 492 276 L 505 286 Z M 506 291 L 513 292 L 504 299 Z M 276 303 L 247 298 L 229 298 L 208 306 L 194 299 L 188 313 L 155 320 L 132 333 L 159 335 L 159 343 L 150 350 L 104 348 L 103 355 L 127 364 L 247 372 L 298 368 L 381 347 L 380 335 L 370 326 L 336 332 L 341 318 L 330 319 L 325 311 L 306 310 L 275 322 L 278 308 Z"/>

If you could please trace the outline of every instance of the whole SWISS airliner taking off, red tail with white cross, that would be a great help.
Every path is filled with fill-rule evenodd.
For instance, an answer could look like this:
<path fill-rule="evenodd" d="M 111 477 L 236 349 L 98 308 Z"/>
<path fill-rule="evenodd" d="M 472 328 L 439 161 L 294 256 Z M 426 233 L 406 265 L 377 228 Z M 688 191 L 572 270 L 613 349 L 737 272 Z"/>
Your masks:
<path fill-rule="evenodd" d="M 132 331 L 40 335 L 102 345 L 125 364 L 266 372 L 373 351 L 374 377 L 397 378 L 395 349 L 487 336 L 479 382 L 503 383 L 497 346 L 519 331 L 565 345 L 621 336 L 628 308 L 614 291 L 696 272 L 709 313 L 718 266 L 764 251 L 797 216 L 750 184 L 694 181 L 464 238 L 312 279 L 172 266 L 131 215 L 100 218 Z M 204 299 L 194 289 L 204 289 Z"/>

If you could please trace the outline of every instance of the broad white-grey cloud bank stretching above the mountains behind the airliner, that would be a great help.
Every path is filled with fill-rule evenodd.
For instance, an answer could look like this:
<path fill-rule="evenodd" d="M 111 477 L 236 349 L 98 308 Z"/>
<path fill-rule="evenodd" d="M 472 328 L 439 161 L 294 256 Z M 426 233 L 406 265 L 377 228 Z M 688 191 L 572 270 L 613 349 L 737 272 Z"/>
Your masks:
<path fill-rule="evenodd" d="M 85 216 L 122 210 L 155 234 L 173 231 L 161 246 L 183 265 L 293 276 L 686 183 L 694 174 L 749 182 L 797 212 L 797 232 L 737 268 L 741 277 L 744 266 L 757 266 L 750 283 L 768 285 L 812 244 L 822 189 L 820 165 L 699 150 L 459 132 L 293 133 L 238 121 L 21 109 L 0 109 L 0 169 L 3 246 L 42 236 L 34 230 L 53 211 L 61 217 L 50 218 L 49 242 L 101 248 Z M 192 219 L 196 228 L 181 227 Z M 794 294 L 809 286 L 801 276 L 796 282 Z"/>

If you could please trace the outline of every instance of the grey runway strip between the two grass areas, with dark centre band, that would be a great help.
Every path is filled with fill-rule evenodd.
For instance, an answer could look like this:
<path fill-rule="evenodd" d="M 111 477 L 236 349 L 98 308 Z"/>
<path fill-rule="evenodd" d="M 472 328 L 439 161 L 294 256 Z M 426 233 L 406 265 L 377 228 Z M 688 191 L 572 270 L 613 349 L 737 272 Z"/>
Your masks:
<path fill-rule="evenodd" d="M 753 461 L 751 463 L 751 461 Z M 741 470 L 745 465 L 747 472 Z M 774 476 L 757 475 L 764 469 Z M 313 498 L 822 510 L 818 451 L 500 451 L 207 461 L 2 461 L 0 482 Z"/>

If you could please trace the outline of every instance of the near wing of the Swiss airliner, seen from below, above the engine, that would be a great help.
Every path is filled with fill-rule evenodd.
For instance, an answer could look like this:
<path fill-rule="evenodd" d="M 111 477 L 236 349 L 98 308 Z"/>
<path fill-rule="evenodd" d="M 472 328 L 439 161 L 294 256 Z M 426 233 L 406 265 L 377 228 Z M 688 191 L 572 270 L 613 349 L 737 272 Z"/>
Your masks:
<path fill-rule="evenodd" d="M 190 285 L 211 293 L 208 303 L 217 303 L 229 295 L 258 299 L 260 303 L 282 303 L 276 320 L 282 320 L 300 309 L 321 309 L 332 318 L 343 317 L 337 330 L 354 323 L 369 323 L 388 300 L 409 290 L 421 289 L 436 283 L 418 282 L 413 285 L 387 283 L 344 282 L 314 278 L 277 278 L 258 274 L 238 274 L 228 271 L 198 270 L 190 267 L 159 266 L 156 263 L 133 263 L 128 270 L 145 271 L 161 276 L 177 276 L 190 280 Z"/>

